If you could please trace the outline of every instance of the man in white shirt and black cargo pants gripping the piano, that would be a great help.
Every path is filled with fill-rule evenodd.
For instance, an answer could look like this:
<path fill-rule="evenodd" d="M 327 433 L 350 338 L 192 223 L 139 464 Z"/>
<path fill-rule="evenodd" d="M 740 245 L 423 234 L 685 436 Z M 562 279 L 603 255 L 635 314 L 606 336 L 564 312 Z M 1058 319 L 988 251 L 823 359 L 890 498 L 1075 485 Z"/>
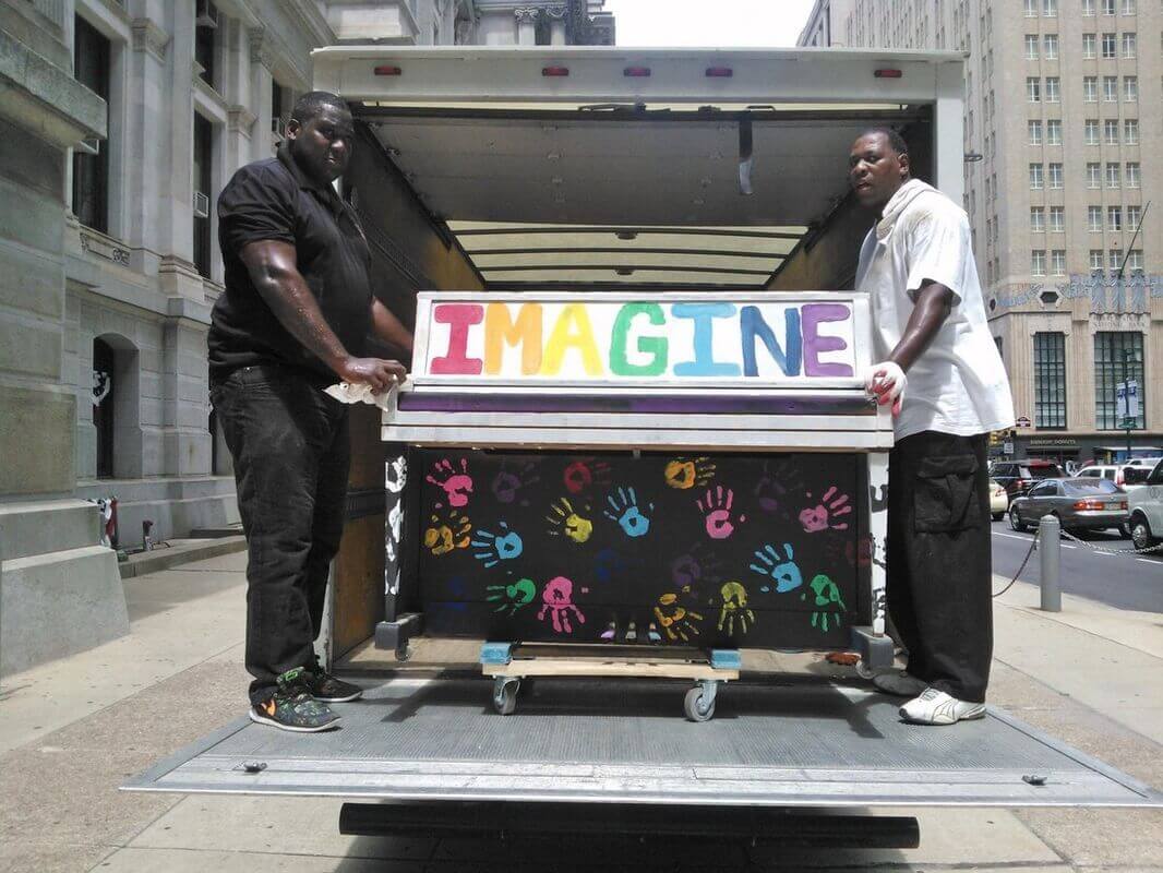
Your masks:
<path fill-rule="evenodd" d="M 877 212 L 856 290 L 871 297 L 880 360 L 866 386 L 896 418 L 887 605 L 908 650 L 905 670 L 873 682 L 913 698 L 904 719 L 955 724 L 985 715 L 993 648 L 986 442 L 990 431 L 1013 425 L 1013 400 L 964 211 L 909 177 L 894 130 L 856 140 L 849 180 Z"/>

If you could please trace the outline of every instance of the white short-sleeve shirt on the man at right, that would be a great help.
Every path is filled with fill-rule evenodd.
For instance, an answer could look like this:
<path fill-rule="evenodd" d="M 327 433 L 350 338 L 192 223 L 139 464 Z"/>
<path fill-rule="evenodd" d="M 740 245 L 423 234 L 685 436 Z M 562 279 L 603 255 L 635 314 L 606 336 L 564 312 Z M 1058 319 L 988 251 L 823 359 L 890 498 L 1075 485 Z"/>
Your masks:
<path fill-rule="evenodd" d="M 898 440 L 921 431 L 971 436 L 1014 424 L 971 240 L 964 211 L 932 185 L 911 179 L 861 247 L 856 290 L 871 297 L 877 360 L 886 360 L 900 342 L 923 283 L 946 285 L 955 296 L 949 318 L 908 369 L 894 423 Z"/>

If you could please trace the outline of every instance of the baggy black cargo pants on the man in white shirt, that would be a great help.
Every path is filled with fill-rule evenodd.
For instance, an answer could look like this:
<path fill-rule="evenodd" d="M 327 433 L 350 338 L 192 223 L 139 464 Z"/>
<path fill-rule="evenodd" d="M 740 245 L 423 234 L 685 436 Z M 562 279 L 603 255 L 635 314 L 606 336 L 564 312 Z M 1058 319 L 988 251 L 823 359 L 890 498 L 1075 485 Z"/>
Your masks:
<path fill-rule="evenodd" d="M 889 459 L 886 597 L 908 673 L 982 702 L 993 656 L 986 436 L 925 431 Z"/>

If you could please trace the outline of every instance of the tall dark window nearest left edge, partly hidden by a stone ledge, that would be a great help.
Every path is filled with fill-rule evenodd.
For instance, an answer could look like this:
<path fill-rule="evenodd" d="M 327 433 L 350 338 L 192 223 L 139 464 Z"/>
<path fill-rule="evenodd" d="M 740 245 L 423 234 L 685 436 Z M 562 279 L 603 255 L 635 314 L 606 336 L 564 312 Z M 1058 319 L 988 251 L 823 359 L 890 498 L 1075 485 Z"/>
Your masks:
<path fill-rule="evenodd" d="M 73 36 L 73 76 L 109 102 L 109 41 L 79 15 Z M 73 214 L 85 227 L 109 229 L 109 142 L 98 154 L 73 152 Z"/>

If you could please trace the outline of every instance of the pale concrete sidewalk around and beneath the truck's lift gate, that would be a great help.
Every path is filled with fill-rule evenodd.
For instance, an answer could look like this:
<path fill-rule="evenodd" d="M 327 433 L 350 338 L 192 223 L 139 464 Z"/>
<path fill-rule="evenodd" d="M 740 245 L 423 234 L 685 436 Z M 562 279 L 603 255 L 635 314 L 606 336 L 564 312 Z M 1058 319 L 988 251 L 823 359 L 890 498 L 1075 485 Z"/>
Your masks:
<path fill-rule="evenodd" d="M 341 801 L 330 799 L 116 790 L 243 712 L 244 563 L 231 554 L 127 580 L 129 637 L 5 681 L 0 871 L 1163 871 L 1160 810 L 928 809 L 918 815 L 921 846 L 907 851 L 648 840 L 612 852 L 570 840 L 342 837 Z M 1161 616 L 1070 596 L 1048 615 L 1023 583 L 996 604 L 991 702 L 1163 786 Z M 778 666 L 843 675 L 819 655 L 782 655 Z"/>

